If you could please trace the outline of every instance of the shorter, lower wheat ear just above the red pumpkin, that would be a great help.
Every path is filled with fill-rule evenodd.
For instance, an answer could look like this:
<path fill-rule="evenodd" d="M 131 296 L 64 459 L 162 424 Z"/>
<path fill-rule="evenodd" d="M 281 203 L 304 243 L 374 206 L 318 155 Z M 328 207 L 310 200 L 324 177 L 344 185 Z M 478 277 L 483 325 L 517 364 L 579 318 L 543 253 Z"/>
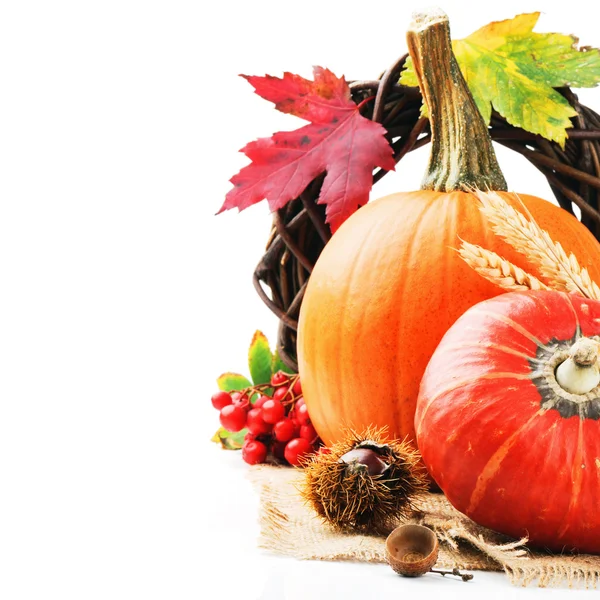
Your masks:
<path fill-rule="evenodd" d="M 481 246 L 462 241 L 458 253 L 482 277 L 507 291 L 550 289 L 533 275 Z"/>

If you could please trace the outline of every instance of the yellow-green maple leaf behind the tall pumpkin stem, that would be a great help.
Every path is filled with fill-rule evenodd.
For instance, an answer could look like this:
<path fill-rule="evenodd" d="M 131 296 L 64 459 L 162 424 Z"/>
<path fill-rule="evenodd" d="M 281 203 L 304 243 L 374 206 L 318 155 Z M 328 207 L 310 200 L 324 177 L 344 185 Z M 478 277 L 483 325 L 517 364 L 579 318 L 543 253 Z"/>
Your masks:
<path fill-rule="evenodd" d="M 533 33 L 539 12 L 490 23 L 452 49 L 486 123 L 492 107 L 511 125 L 564 146 L 577 113 L 554 88 L 600 83 L 600 50 L 560 33 Z M 400 83 L 418 86 L 412 60 Z"/>

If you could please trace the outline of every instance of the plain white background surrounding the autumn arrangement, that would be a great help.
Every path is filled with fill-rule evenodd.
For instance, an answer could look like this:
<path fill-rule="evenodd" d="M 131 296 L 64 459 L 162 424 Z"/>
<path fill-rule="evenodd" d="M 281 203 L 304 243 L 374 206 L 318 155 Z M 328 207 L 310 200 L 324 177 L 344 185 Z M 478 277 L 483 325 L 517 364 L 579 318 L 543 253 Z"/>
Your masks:
<path fill-rule="evenodd" d="M 237 75 L 374 78 L 427 5 L 0 4 L 3 600 L 535 593 L 267 555 L 247 467 L 208 442 L 216 376 L 245 371 L 254 330 L 277 326 L 251 284 L 267 207 L 214 214 L 237 150 L 301 124 Z M 595 5 L 443 8 L 456 38 L 542 9 L 538 31 L 600 46 Z M 580 97 L 600 109 L 599 90 Z M 426 156 L 373 197 L 418 188 Z M 524 159 L 499 159 L 512 189 L 551 197 Z"/>

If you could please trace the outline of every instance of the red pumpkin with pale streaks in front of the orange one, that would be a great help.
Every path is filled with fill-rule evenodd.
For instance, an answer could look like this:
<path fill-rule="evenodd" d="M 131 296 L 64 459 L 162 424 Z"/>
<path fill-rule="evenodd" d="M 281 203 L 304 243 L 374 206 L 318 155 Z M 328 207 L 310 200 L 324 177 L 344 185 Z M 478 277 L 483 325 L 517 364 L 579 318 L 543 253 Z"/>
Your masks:
<path fill-rule="evenodd" d="M 600 552 L 599 336 L 600 302 L 545 291 L 486 300 L 449 329 L 415 429 L 459 511 L 535 546 Z"/>

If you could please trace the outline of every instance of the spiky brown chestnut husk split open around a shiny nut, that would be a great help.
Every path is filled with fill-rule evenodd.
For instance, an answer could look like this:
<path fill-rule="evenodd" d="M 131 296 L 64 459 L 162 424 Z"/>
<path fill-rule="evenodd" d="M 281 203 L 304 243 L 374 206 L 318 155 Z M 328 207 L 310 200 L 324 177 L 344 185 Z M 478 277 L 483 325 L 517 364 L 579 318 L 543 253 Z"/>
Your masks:
<path fill-rule="evenodd" d="M 386 430 L 348 430 L 344 439 L 304 463 L 300 492 L 336 529 L 385 535 L 414 510 L 428 478 L 413 446 Z"/>

